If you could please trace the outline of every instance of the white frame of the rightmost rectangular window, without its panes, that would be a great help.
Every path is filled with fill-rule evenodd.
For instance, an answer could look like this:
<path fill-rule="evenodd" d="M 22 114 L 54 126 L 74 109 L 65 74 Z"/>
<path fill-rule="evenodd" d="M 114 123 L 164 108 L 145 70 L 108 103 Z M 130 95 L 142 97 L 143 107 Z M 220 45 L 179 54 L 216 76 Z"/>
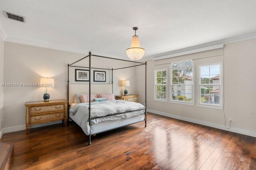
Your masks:
<path fill-rule="evenodd" d="M 202 66 L 212 66 L 212 65 L 220 65 L 220 84 L 218 84 L 218 86 L 220 86 L 220 105 L 214 105 L 214 104 L 202 104 L 200 103 L 201 101 L 201 90 L 200 90 L 200 86 L 202 84 L 201 83 L 201 69 L 200 67 Z M 210 73 L 209 73 L 210 74 Z M 210 64 L 200 64 L 198 65 L 198 87 L 197 87 L 197 95 L 198 95 L 198 102 L 197 102 L 197 106 L 198 107 L 208 107 L 208 108 L 213 108 L 213 109 L 223 109 L 223 63 L 210 63 Z"/>

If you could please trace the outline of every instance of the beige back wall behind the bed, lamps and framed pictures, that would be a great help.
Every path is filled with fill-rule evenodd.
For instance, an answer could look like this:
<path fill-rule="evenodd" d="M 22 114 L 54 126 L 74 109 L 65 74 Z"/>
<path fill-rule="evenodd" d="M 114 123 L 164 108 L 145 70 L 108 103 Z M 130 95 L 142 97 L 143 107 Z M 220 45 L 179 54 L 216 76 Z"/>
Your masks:
<path fill-rule="evenodd" d="M 93 51 L 92 51 L 93 52 Z M 95 52 L 96 54 L 96 52 Z M 39 83 L 40 78 L 54 78 L 54 88 L 49 88 L 50 100 L 66 99 L 67 93 L 67 64 L 85 57 L 84 54 L 71 53 L 30 45 L 4 42 L 4 82 L 5 83 Z M 75 64 L 88 66 L 88 59 Z M 122 61 L 92 58 L 92 67 L 119 68 L 131 66 L 133 63 Z M 86 68 L 81 68 L 86 69 Z M 70 68 L 70 84 L 75 82 L 75 70 Z M 110 75 L 108 74 L 108 77 Z M 121 80 L 130 80 L 129 93 L 136 92 L 135 69 L 127 68 L 114 72 L 114 94 L 122 94 Z M 106 83 L 110 83 L 107 80 Z M 13 129 L 25 128 L 25 102 L 42 101 L 45 88 L 38 87 L 5 87 L 4 88 L 4 122 Z M 8 129 L 8 128 L 7 128 Z M 11 131 L 6 130 L 5 132 Z"/>

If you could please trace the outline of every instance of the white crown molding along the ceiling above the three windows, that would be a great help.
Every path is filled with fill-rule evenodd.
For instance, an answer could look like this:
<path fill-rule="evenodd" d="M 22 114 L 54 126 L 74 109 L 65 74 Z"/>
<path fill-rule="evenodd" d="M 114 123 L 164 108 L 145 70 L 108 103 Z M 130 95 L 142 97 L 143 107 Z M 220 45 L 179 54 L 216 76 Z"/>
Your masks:
<path fill-rule="evenodd" d="M 146 59 L 144 59 L 144 60 L 152 59 L 153 61 L 156 61 L 156 60 L 161 60 L 161 59 L 166 59 L 166 58 L 171 58 L 171 57 L 178 57 L 181 55 L 187 55 L 187 54 L 198 53 L 198 52 L 202 52 L 202 51 L 208 51 L 208 50 L 212 50 L 212 49 L 223 48 L 224 44 L 235 43 L 238 41 L 244 41 L 244 40 L 253 39 L 253 38 L 256 38 L 256 33 L 242 35 L 242 36 L 238 36 L 238 37 L 227 38 L 227 39 L 221 39 L 218 41 L 212 41 L 210 43 L 204 43 L 204 44 L 195 45 L 192 47 L 187 47 L 187 48 L 183 48 L 183 49 L 169 51 L 166 53 L 152 55 L 152 56 L 146 57 Z"/>

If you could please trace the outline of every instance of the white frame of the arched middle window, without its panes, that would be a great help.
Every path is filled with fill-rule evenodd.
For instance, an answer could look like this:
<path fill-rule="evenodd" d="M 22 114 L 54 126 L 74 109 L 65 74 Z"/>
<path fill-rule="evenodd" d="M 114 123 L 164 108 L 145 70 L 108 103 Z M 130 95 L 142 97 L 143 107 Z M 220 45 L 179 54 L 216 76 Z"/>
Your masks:
<path fill-rule="evenodd" d="M 182 60 L 182 61 L 188 61 L 188 60 Z M 184 105 L 190 105 L 190 106 L 195 106 L 195 88 L 194 88 L 194 85 L 195 85 L 195 64 L 194 64 L 194 61 L 193 60 L 190 60 L 192 61 L 192 64 L 193 66 L 185 66 L 185 67 L 174 67 L 172 68 L 173 64 L 176 63 L 176 62 L 181 62 L 181 61 L 175 61 L 175 62 L 172 62 L 170 64 L 170 99 L 169 99 L 169 102 L 170 103 L 174 103 L 174 104 L 184 104 Z M 193 77 L 193 80 L 192 80 L 192 84 L 187 84 L 188 86 L 191 86 L 192 85 L 192 102 L 186 102 L 186 101 L 177 101 L 177 100 L 172 100 L 172 70 L 176 70 L 176 69 L 180 69 L 180 68 L 192 68 L 192 77 Z M 175 86 L 175 85 L 174 85 Z M 182 85 L 182 86 L 186 86 L 186 85 Z"/>

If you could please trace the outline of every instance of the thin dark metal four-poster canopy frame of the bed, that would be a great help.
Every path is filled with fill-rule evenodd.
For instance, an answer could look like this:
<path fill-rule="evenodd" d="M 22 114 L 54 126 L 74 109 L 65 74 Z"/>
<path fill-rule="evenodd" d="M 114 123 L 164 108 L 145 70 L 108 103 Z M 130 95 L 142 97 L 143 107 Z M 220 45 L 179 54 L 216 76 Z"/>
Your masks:
<path fill-rule="evenodd" d="M 120 60 L 120 61 L 126 61 L 126 62 L 132 62 L 132 63 L 138 63 L 138 65 L 134 65 L 134 66 L 127 66 L 127 67 L 122 67 L 122 68 L 115 68 L 115 69 L 113 69 L 113 68 L 111 68 L 111 69 L 109 69 L 109 68 L 95 68 L 95 67 L 91 67 L 91 57 L 92 56 L 94 56 L 94 57 L 101 57 L 101 58 L 105 58 L 105 59 L 113 59 L 113 60 Z M 86 59 L 87 57 L 89 57 L 89 67 L 86 67 L 86 66 L 74 66 L 73 64 L 75 64 L 75 63 L 77 63 L 77 62 L 79 62 L 79 61 L 81 61 L 81 60 L 83 60 L 83 59 Z M 92 53 L 91 52 L 89 52 L 89 55 L 87 55 L 86 57 L 84 57 L 84 58 L 82 58 L 82 59 L 80 59 L 80 60 L 78 60 L 78 61 L 76 61 L 76 62 L 74 62 L 74 63 L 72 63 L 72 64 L 68 64 L 68 100 L 69 100 L 69 67 L 81 67 L 81 68 L 89 68 L 89 119 L 88 119 L 88 121 L 89 121 L 89 126 L 91 127 L 91 119 L 96 119 L 96 118 L 100 118 L 100 117 L 94 117 L 94 118 L 91 118 L 91 100 L 90 100 L 90 96 L 91 96 L 91 68 L 93 68 L 93 69 L 101 69 L 101 70 L 111 70 L 111 74 L 112 74 L 112 81 L 111 81 L 111 83 L 112 83 L 112 93 L 113 93 L 113 71 L 114 70 L 119 70 L 119 69 L 124 69 L 124 68 L 130 68 L 130 67 L 135 67 L 135 66 L 141 66 L 141 65 L 145 65 L 145 112 L 144 112 L 144 114 L 145 114 L 145 118 L 144 118 L 144 120 L 142 120 L 142 121 L 145 121 L 145 127 L 147 126 L 147 62 L 145 62 L 145 63 L 140 63 L 140 62 L 136 62 L 136 61 L 129 61 L 129 60 L 123 60 L 123 59 L 115 59 L 115 58 L 111 58 L 111 57 L 104 57 L 104 56 L 99 56 L 99 55 L 92 55 Z M 69 106 L 69 102 L 70 101 L 68 101 L 68 106 Z M 122 114 L 122 113 L 114 113 L 114 114 L 111 114 L 111 115 L 117 115 L 117 114 Z M 107 116 L 111 116 L 111 115 L 107 115 Z M 106 117 L 106 116 L 102 116 L 102 117 Z M 69 119 L 71 119 L 70 117 L 69 117 L 69 107 L 68 107 L 68 120 Z M 72 119 L 71 119 L 72 120 Z M 137 121 L 137 122 L 134 122 L 134 123 L 138 123 L 138 122 L 141 122 L 141 121 Z M 128 125 L 131 125 L 131 124 L 134 124 L 134 123 L 130 123 L 130 124 L 128 124 Z M 127 125 L 122 125 L 122 126 L 119 126 L 119 127 L 123 127 L 123 126 L 127 126 Z M 118 128 L 118 127 L 116 127 L 116 128 Z M 113 129 L 116 129 L 116 128 L 113 128 Z M 112 130 L 112 129 L 108 129 L 108 130 Z M 104 131 L 100 131 L 100 132 L 98 132 L 98 133 L 102 133 L 102 132 L 104 132 Z M 89 133 L 89 135 L 88 135 L 88 145 L 91 145 L 91 136 L 92 135 L 95 135 L 95 134 L 97 134 L 97 133 Z"/>

